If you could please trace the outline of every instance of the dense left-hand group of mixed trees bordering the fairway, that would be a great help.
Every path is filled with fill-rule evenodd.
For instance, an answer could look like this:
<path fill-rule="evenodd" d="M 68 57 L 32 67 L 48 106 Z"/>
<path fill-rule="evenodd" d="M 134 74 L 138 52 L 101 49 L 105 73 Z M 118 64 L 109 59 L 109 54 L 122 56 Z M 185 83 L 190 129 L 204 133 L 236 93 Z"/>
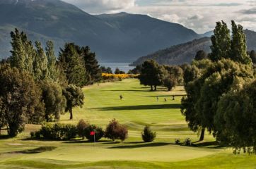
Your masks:
<path fill-rule="evenodd" d="M 81 87 L 99 82 L 101 70 L 88 46 L 66 43 L 55 56 L 54 44 L 45 49 L 25 32 L 11 32 L 11 56 L 0 64 L 0 134 L 16 136 L 26 123 L 58 121 L 60 115 L 83 106 Z"/>

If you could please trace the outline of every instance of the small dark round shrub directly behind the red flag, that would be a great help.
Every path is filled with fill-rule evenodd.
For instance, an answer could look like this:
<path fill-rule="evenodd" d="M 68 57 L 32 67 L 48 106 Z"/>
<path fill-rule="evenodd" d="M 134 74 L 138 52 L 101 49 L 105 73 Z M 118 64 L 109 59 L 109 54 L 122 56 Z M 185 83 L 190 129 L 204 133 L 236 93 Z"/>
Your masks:
<path fill-rule="evenodd" d="M 84 135 L 86 139 L 88 139 L 91 142 L 94 142 L 94 136 L 91 135 L 91 132 L 95 132 L 96 142 L 104 136 L 104 131 L 101 127 L 98 127 L 96 125 L 88 125 L 84 130 Z"/>

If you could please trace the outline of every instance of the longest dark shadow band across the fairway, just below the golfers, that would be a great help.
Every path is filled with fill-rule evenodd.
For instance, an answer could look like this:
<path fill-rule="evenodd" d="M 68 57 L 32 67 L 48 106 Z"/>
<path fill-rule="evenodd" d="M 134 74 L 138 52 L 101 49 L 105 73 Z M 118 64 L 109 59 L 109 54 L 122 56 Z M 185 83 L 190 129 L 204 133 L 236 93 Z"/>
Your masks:
<path fill-rule="evenodd" d="M 169 109 L 180 108 L 180 104 L 156 104 L 156 105 L 136 105 L 136 106 L 115 106 L 92 108 L 98 111 L 131 111 L 131 110 L 148 110 L 148 109 Z"/>

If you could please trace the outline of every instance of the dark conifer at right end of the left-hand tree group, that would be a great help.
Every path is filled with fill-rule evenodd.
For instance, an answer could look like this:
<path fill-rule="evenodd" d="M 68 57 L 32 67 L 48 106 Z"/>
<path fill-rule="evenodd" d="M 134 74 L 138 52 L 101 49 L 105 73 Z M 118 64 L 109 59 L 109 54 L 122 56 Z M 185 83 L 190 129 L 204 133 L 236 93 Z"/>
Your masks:
<path fill-rule="evenodd" d="M 89 46 L 82 47 L 80 50 L 81 56 L 83 57 L 86 70 L 90 75 L 91 83 L 98 82 L 101 80 L 101 70 L 97 59 L 95 58 L 95 53 L 91 52 Z"/>

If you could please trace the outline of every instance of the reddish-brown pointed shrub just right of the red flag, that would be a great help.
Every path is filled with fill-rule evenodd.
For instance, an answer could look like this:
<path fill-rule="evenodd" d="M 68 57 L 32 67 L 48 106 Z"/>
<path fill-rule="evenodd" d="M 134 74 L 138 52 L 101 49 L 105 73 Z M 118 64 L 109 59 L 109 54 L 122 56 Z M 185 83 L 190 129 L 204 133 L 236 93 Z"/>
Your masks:
<path fill-rule="evenodd" d="M 123 142 L 124 139 L 127 139 L 128 137 L 127 127 L 121 125 L 117 120 L 113 119 L 106 127 L 105 137 L 112 139 L 112 141 L 115 141 L 115 139 L 121 139 Z"/>

